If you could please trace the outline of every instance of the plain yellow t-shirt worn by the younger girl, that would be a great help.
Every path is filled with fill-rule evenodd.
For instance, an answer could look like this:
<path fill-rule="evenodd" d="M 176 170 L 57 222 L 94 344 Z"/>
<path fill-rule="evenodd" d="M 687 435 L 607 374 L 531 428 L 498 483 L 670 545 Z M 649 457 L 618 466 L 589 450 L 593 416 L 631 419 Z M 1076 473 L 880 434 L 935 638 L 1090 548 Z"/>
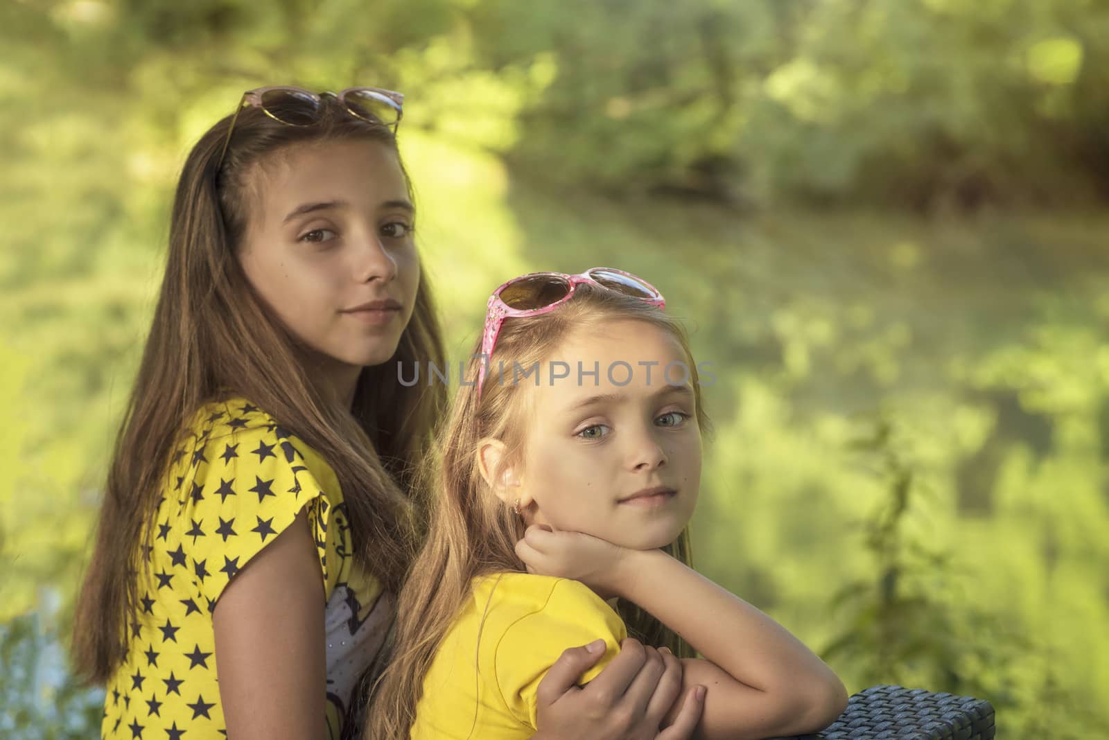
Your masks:
<path fill-rule="evenodd" d="M 536 691 L 562 651 L 604 638 L 606 655 L 584 684 L 627 636 L 612 607 L 577 580 L 527 573 L 475 578 L 424 679 L 411 740 L 530 738 Z"/>

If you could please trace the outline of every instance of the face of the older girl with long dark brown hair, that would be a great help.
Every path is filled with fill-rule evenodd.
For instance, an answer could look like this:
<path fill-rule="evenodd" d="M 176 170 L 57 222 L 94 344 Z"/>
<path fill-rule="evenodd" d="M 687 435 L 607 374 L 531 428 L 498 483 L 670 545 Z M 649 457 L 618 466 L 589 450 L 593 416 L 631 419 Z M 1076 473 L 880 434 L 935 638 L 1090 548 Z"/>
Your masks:
<path fill-rule="evenodd" d="M 252 177 L 247 279 L 325 367 L 356 378 L 388 360 L 420 270 L 396 153 L 374 141 L 298 144 Z"/>

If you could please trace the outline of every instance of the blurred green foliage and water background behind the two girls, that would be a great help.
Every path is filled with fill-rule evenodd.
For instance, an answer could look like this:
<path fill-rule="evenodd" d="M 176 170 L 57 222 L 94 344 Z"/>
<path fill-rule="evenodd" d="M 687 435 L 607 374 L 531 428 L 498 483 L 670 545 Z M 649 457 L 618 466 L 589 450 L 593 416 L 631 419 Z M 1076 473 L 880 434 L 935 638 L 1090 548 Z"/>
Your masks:
<path fill-rule="evenodd" d="M 282 82 L 408 95 L 454 357 L 522 271 L 662 289 L 715 377 L 700 567 L 852 691 L 1109 726 L 1107 55 L 1095 0 L 0 4 L 4 737 L 95 724 L 59 639 L 176 171 Z"/>

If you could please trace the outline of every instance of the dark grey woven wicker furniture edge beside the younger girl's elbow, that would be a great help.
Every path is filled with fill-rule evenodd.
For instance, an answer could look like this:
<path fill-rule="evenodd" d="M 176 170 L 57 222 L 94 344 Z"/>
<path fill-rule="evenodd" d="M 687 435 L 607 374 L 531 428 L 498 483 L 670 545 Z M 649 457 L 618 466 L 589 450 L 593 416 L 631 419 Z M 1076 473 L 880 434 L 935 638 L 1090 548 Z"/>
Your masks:
<path fill-rule="evenodd" d="M 993 740 L 994 707 L 984 699 L 902 686 L 872 686 L 823 732 L 772 740 Z"/>

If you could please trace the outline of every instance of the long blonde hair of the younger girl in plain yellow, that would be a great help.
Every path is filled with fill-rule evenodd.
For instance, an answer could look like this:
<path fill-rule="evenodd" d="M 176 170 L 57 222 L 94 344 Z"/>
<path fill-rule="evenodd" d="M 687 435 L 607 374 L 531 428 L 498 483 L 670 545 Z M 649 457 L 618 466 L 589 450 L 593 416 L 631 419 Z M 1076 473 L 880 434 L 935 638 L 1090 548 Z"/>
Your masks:
<path fill-rule="evenodd" d="M 632 319 L 674 336 L 686 358 L 689 343 L 680 322 L 640 300 L 611 291 L 579 286 L 573 298 L 557 311 L 506 321 L 489 358 L 490 367 L 531 368 L 557 351 L 574 329 L 588 330 L 600 322 Z M 475 354 L 480 351 L 480 345 Z M 479 400 L 474 383 L 480 360 L 471 358 L 447 424 L 436 444 L 437 462 L 428 486 L 439 496 L 424 549 L 413 565 L 400 593 L 397 641 L 389 666 L 378 680 L 366 724 L 367 740 L 404 740 L 416 718 L 416 705 L 424 678 L 444 637 L 468 597 L 472 578 L 496 572 L 525 571 L 515 545 L 523 535 L 523 523 L 510 506 L 489 490 L 478 469 L 478 446 L 482 439 L 509 442 L 508 455 L 518 460 L 522 450 L 525 413 L 522 383 L 485 384 Z M 701 407 L 696 368 L 689 362 L 695 415 L 702 430 L 706 420 Z M 689 531 L 664 548 L 689 564 Z M 689 647 L 658 619 L 632 604 L 620 602 L 620 616 L 631 636 L 657 647 L 667 646 L 675 655 L 691 656 Z M 568 646 L 569 647 L 569 646 Z M 476 670 L 476 666 L 475 666 Z"/>

